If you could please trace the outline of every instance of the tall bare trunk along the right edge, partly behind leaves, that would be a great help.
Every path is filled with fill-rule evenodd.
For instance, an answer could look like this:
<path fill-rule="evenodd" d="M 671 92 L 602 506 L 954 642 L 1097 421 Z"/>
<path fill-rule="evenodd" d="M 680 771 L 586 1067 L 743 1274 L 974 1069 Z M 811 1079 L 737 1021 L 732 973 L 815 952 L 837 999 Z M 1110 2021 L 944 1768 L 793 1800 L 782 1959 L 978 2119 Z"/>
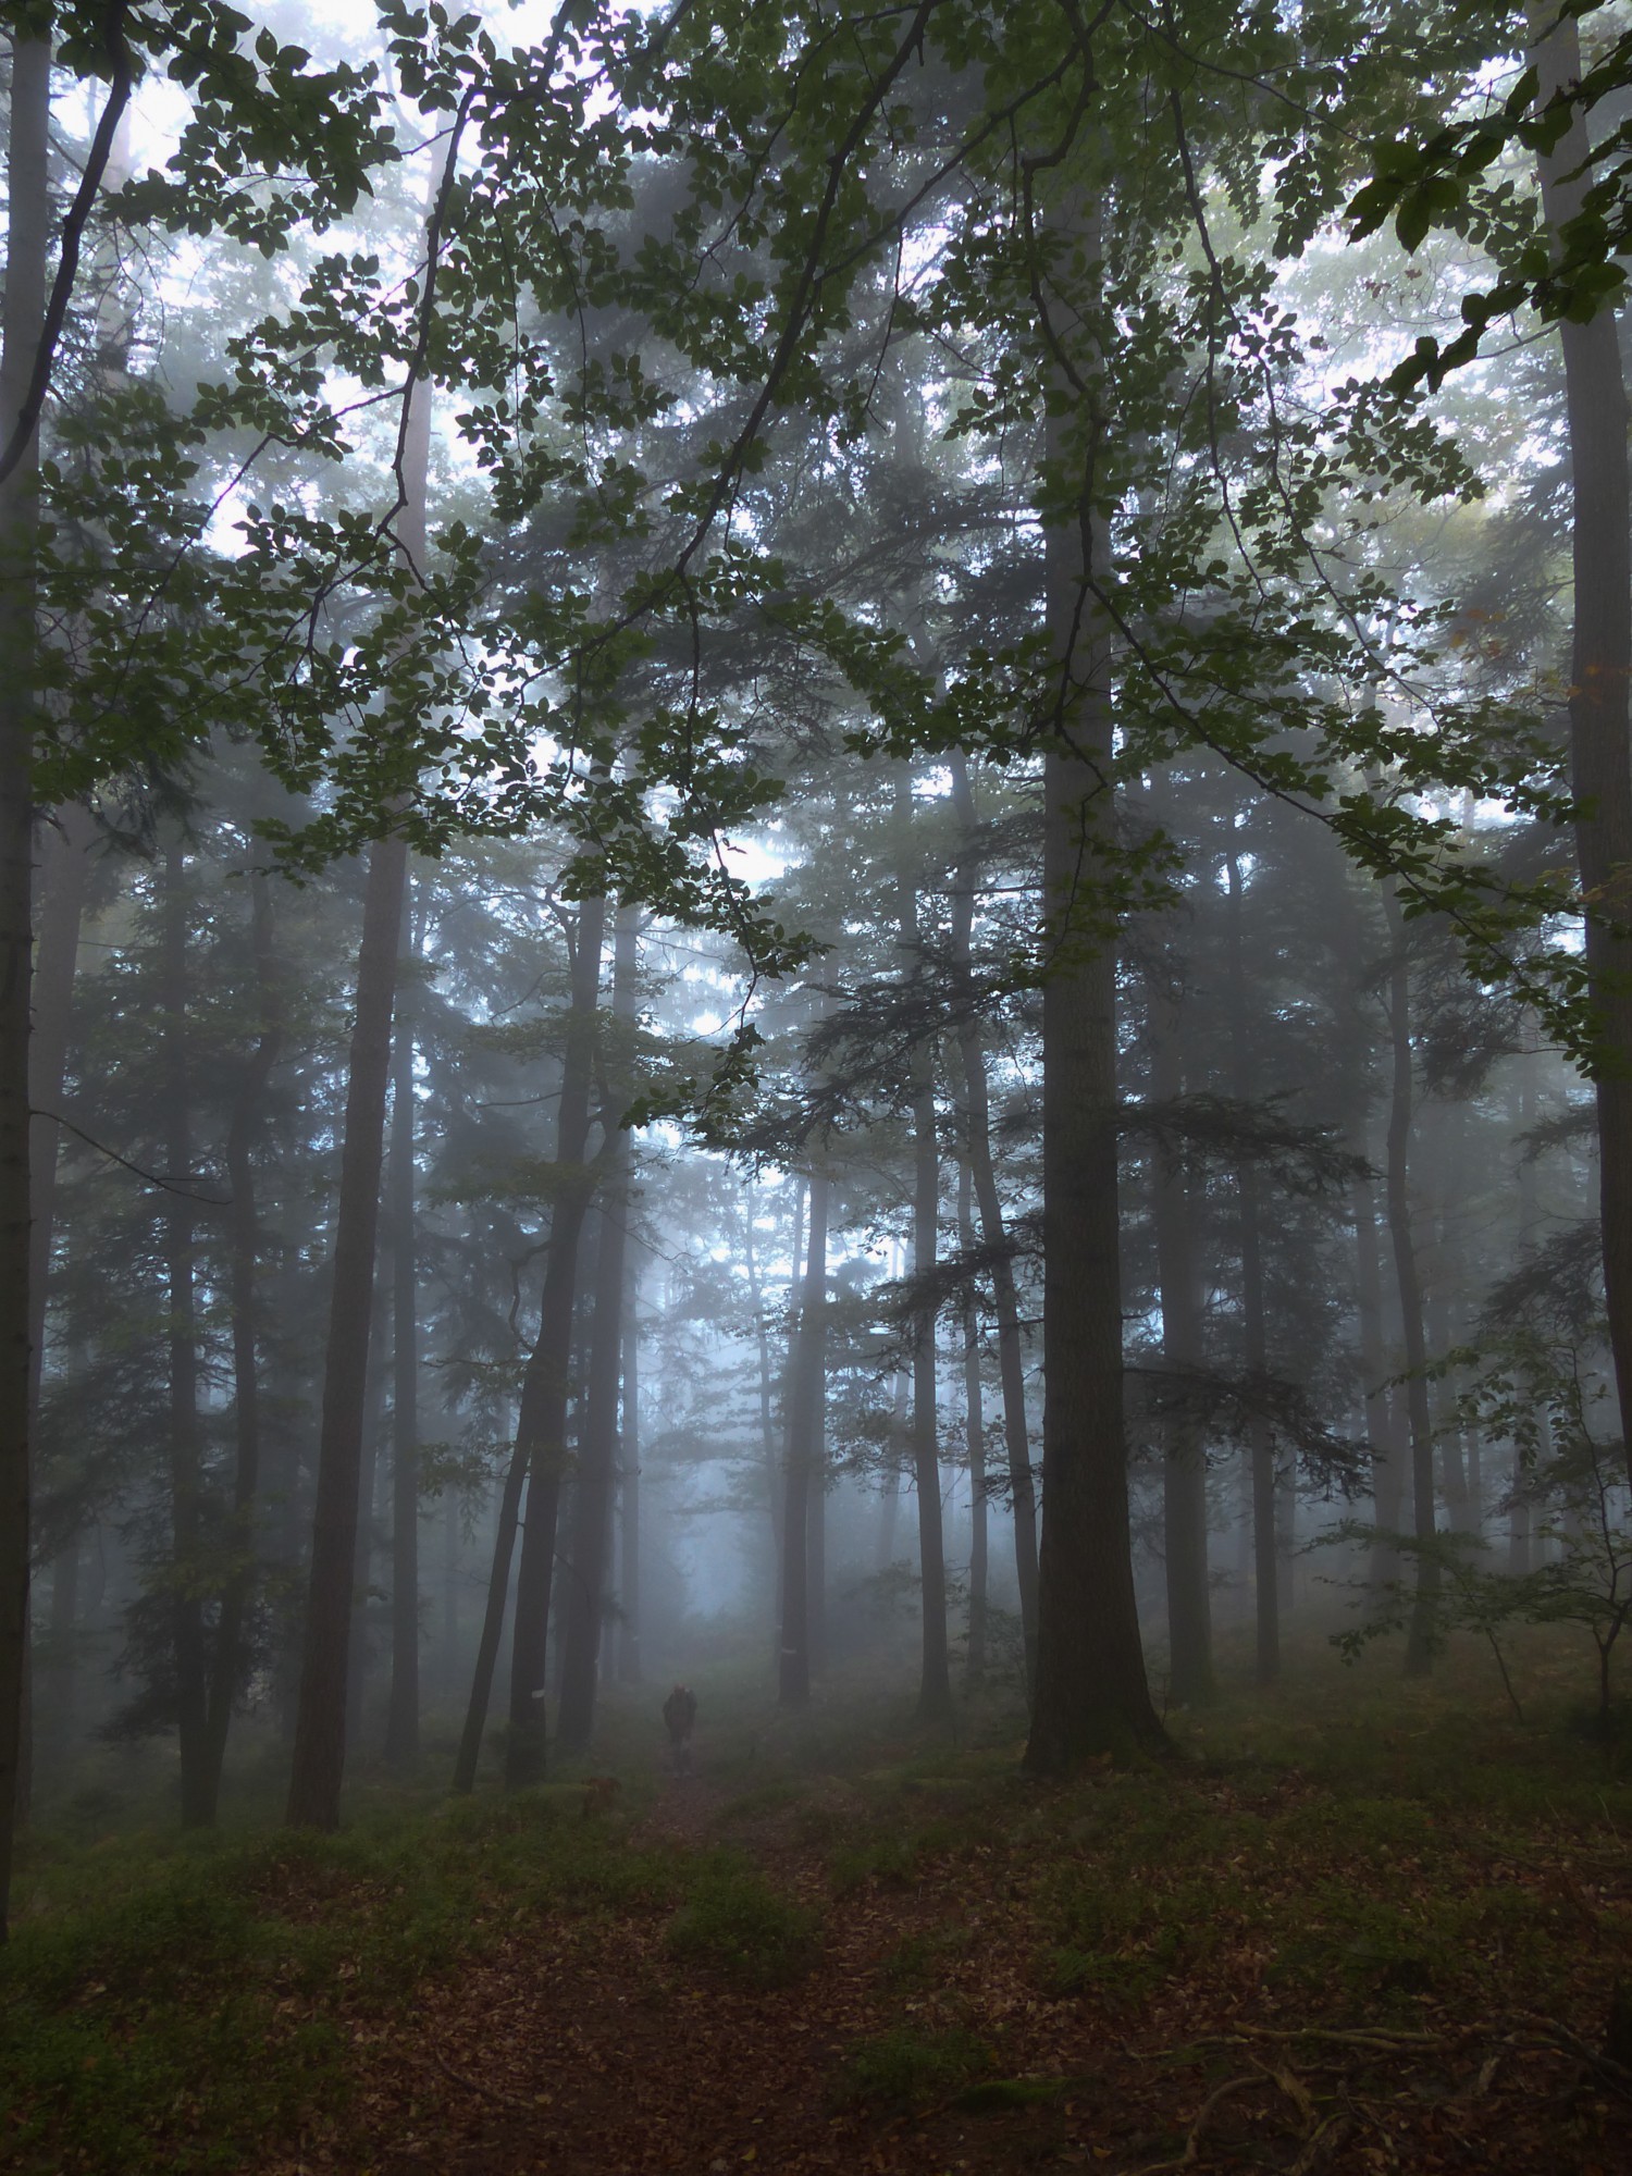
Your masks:
<path fill-rule="evenodd" d="M 1558 0 L 1530 0 L 1536 102 L 1580 81 L 1575 15 Z M 1578 113 L 1543 154 L 1541 205 L 1554 237 L 1580 213 L 1593 185 L 1586 122 Z M 1586 923 L 1586 988 L 1599 1049 L 1591 1066 L 1597 1092 L 1599 1223 L 1604 1232 L 1604 1308 L 1610 1325 L 1621 1434 L 1632 1458 L 1632 938 L 1625 890 L 1632 868 L 1632 483 L 1628 479 L 1628 398 L 1615 311 L 1586 324 L 1560 320 L 1565 409 L 1569 418 L 1571 551 L 1575 640 L 1569 670 L 1569 766 L 1575 860 L 1582 892 L 1595 903 Z"/>

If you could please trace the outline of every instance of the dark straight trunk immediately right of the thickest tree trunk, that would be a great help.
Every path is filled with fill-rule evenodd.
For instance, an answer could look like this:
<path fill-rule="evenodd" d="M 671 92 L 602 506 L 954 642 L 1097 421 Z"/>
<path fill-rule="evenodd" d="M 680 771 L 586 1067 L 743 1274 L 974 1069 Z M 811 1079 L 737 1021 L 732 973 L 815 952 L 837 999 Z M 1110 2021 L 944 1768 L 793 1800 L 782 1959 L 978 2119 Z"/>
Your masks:
<path fill-rule="evenodd" d="M 1173 1103 L 1184 1092 L 1177 1003 L 1166 994 L 1153 994 L 1151 1012 L 1151 1095 L 1158 1103 Z M 1195 1708 L 1210 1702 L 1216 1691 L 1208 1593 L 1208 1449 L 1192 1388 L 1192 1377 L 1206 1360 L 1206 1301 L 1195 1201 L 1177 1160 L 1162 1149 L 1155 1151 L 1153 1212 L 1162 1362 L 1179 1384 L 1162 1454 L 1169 1689 L 1179 1706 Z"/>

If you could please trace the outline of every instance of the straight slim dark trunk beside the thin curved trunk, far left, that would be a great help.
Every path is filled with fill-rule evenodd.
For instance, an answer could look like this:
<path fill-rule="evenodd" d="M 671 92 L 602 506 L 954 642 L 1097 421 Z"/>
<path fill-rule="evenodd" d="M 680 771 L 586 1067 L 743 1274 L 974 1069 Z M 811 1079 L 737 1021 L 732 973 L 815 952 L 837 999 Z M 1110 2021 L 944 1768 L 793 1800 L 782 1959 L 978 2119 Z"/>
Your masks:
<path fill-rule="evenodd" d="M 161 864 L 161 1012 L 165 1073 L 163 1256 L 170 1347 L 170 1639 L 176 1669 L 181 1823 L 213 1817 L 205 1678 L 205 1445 L 198 1423 L 198 1303 L 194 1295 L 191 1077 L 187 1064 L 187 877 L 181 846 Z"/>

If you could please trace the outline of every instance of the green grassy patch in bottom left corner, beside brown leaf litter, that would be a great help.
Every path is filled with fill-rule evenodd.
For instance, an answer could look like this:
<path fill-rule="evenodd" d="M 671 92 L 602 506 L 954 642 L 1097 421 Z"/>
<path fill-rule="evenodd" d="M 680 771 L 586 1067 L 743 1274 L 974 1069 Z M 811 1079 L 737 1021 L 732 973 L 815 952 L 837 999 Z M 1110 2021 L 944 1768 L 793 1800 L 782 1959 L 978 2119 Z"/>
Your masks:
<path fill-rule="evenodd" d="M 355 2019 L 529 1919 L 685 1895 L 685 1852 L 579 1808 L 561 1786 L 335 1837 L 37 1843 L 0 1952 L 7 2165 L 242 2169 L 344 2109 Z"/>

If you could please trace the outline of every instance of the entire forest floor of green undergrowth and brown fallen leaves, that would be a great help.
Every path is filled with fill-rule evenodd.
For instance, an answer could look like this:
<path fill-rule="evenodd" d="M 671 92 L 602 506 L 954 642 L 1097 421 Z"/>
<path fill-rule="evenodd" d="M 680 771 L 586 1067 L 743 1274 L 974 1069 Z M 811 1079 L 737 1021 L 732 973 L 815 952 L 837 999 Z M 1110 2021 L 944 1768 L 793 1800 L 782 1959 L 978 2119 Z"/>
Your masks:
<path fill-rule="evenodd" d="M 1001 1704 L 794 1726 L 698 1671 L 696 1773 L 657 1695 L 607 1717 L 611 1810 L 363 1784 L 339 1837 L 200 1841 L 81 1791 L 0 1954 L 0 2165 L 1632 2172 L 1591 1662 L 1538 1636 L 1519 1721 L 1397 1660 L 1312 1645 L 1068 1784 Z"/>

